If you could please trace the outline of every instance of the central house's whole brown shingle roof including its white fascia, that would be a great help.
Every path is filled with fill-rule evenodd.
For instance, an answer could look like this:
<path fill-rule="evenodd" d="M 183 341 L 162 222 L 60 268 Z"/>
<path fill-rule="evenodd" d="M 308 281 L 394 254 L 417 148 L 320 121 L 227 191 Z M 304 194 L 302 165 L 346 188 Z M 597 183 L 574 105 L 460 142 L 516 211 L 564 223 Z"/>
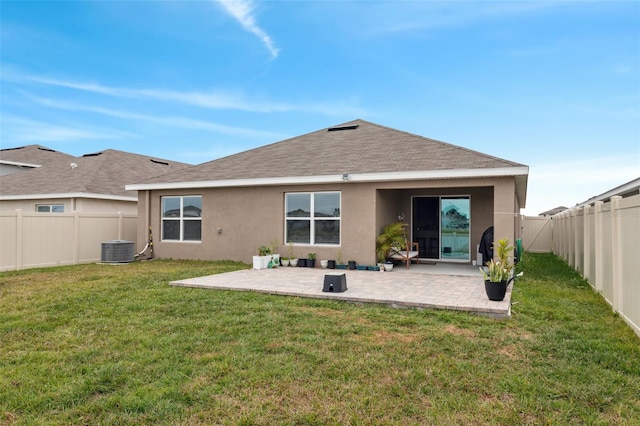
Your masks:
<path fill-rule="evenodd" d="M 154 177 L 128 189 L 516 176 L 524 206 L 528 167 L 354 120 Z"/>

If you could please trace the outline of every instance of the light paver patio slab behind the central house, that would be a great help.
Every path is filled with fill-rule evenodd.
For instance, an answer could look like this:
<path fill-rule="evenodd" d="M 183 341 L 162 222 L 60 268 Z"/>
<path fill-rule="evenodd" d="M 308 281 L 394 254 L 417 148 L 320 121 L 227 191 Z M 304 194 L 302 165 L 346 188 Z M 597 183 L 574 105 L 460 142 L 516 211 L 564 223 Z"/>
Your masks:
<path fill-rule="evenodd" d="M 323 292 L 325 274 L 346 274 L 347 291 Z M 241 270 L 174 281 L 170 285 L 206 289 L 256 291 L 283 296 L 380 303 L 394 307 L 448 309 L 493 318 L 511 315 L 511 290 L 491 301 L 475 266 L 455 264 L 396 266 L 391 272 L 321 268 Z"/>

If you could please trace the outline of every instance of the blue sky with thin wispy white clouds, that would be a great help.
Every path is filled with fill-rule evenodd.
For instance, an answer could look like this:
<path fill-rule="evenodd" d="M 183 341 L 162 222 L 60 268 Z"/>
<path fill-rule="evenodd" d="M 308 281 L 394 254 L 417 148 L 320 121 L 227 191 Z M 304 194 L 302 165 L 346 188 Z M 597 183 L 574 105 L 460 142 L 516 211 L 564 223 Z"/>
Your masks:
<path fill-rule="evenodd" d="M 526 214 L 640 177 L 638 1 L 0 8 L 2 148 L 197 164 L 362 118 L 530 166 Z"/>

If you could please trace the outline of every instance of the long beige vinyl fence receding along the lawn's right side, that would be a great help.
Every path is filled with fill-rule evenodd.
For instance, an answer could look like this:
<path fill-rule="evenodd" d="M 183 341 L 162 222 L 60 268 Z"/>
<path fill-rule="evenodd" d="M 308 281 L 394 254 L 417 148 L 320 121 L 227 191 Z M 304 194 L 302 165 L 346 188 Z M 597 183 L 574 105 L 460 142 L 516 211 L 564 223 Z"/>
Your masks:
<path fill-rule="evenodd" d="M 640 336 L 640 195 L 566 210 L 551 222 L 554 253 Z"/>

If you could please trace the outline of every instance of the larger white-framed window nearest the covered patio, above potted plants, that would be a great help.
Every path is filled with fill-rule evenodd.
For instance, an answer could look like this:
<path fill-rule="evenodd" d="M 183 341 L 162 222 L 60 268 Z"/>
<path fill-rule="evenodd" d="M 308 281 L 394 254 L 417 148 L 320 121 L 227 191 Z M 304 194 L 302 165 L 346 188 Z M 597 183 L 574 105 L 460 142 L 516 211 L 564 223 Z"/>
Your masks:
<path fill-rule="evenodd" d="M 340 193 L 285 194 L 285 241 L 340 244 Z"/>

